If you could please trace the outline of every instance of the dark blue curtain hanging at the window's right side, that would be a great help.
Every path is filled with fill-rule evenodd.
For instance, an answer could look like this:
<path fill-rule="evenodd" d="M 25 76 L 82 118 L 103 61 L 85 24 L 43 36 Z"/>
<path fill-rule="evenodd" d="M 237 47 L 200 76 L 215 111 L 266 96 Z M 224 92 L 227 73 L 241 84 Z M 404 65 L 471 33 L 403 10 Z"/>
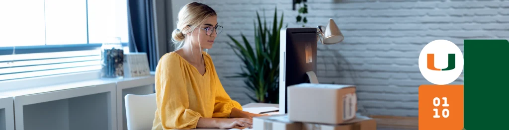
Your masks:
<path fill-rule="evenodd" d="M 128 0 L 130 52 L 146 52 L 150 71 L 155 71 L 158 57 L 152 0 Z"/>

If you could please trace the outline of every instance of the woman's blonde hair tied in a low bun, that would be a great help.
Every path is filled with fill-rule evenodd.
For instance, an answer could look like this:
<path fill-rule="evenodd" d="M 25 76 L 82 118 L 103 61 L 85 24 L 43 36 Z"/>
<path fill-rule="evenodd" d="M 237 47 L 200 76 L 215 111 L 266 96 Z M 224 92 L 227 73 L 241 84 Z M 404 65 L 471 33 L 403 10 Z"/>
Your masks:
<path fill-rule="evenodd" d="M 202 3 L 193 2 L 182 7 L 179 11 L 177 28 L 172 32 L 172 41 L 176 48 L 184 46 L 184 40 L 188 37 L 185 34 L 192 34 L 194 28 L 200 27 L 206 19 L 212 16 L 217 16 L 216 11 Z M 202 48 L 201 45 L 200 48 Z"/>

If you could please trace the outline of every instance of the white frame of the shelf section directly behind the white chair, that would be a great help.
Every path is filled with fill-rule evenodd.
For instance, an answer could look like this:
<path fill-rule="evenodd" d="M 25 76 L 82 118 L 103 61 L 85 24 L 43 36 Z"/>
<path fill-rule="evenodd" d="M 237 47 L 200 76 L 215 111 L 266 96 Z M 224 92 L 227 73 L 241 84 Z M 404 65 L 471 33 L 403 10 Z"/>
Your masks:
<path fill-rule="evenodd" d="M 117 128 L 127 130 L 124 96 L 127 94 L 145 95 L 154 93 L 154 76 L 124 78 L 117 81 Z"/>

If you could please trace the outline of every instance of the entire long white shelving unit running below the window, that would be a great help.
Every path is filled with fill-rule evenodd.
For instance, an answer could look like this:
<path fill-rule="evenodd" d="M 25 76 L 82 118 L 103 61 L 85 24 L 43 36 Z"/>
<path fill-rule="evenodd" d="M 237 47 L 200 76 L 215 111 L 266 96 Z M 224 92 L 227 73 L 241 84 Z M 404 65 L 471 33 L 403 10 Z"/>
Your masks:
<path fill-rule="evenodd" d="M 154 93 L 154 78 L 95 79 L 2 91 L 0 130 L 127 129 L 124 96 Z"/>

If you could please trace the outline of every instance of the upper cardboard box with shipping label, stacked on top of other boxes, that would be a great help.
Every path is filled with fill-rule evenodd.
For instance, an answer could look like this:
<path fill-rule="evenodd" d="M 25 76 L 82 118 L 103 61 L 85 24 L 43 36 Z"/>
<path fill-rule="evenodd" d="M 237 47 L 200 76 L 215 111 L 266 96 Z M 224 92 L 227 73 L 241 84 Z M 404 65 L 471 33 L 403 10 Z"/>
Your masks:
<path fill-rule="evenodd" d="M 303 83 L 287 89 L 291 121 L 340 124 L 355 118 L 354 85 Z"/>

